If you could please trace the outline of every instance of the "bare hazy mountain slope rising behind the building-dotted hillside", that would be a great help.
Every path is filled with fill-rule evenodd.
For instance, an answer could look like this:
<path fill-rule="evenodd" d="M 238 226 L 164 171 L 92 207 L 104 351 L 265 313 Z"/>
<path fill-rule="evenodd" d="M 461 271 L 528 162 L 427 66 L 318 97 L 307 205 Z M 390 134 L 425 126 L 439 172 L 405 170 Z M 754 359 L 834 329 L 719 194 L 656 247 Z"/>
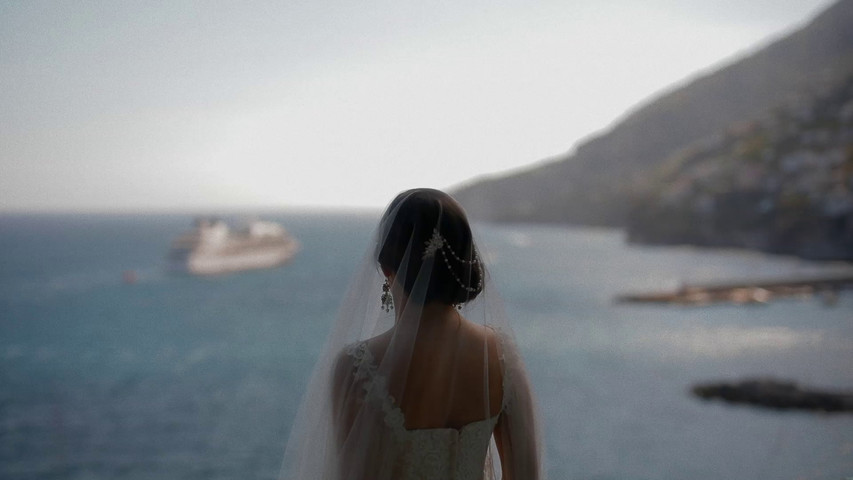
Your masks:
<path fill-rule="evenodd" d="M 661 168 L 673 168 L 675 152 L 697 142 L 713 147 L 721 132 L 834 90 L 850 72 L 853 0 L 841 0 L 799 31 L 649 101 L 574 155 L 453 193 L 479 219 L 625 227 L 638 199 L 664 193 L 646 189 L 658 185 Z M 723 203 L 715 208 L 725 210 Z M 632 231 L 637 240 L 664 238 Z"/>

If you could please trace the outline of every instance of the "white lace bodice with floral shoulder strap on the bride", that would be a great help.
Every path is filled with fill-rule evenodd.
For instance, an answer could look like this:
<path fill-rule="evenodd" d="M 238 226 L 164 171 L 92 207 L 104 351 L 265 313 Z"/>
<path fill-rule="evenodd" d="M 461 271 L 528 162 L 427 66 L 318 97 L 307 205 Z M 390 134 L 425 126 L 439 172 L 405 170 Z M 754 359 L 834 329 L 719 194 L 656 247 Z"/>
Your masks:
<path fill-rule="evenodd" d="M 381 411 L 386 426 L 383 435 L 393 446 L 399 461 L 396 478 L 401 480 L 479 480 L 500 413 L 462 428 L 428 428 L 409 430 L 403 412 L 388 394 L 387 380 L 377 367 L 365 342 L 350 346 L 347 353 L 354 359 L 355 380 L 364 389 L 366 403 Z M 504 382 L 506 378 L 504 377 Z M 503 410 L 503 408 L 502 408 Z"/>

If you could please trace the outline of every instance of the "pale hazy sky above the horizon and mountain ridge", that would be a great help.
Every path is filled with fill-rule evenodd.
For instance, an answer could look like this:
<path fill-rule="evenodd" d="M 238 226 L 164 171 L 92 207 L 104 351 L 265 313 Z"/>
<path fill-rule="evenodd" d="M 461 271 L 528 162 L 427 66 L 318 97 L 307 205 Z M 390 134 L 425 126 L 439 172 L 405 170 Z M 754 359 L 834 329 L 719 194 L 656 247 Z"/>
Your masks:
<path fill-rule="evenodd" d="M 379 207 L 572 151 L 830 0 L 0 0 L 0 211 Z"/>

